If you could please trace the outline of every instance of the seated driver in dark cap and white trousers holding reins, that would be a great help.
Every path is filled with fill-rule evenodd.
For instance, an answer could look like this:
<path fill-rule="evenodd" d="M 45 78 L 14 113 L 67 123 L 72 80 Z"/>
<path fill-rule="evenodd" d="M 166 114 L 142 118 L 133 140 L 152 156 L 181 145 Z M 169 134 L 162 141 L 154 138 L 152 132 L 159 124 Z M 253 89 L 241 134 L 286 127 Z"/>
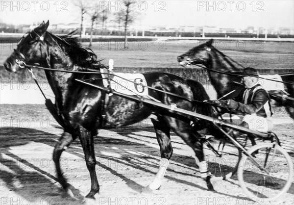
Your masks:
<path fill-rule="evenodd" d="M 258 84 L 259 73 L 256 69 L 247 67 L 242 72 L 242 82 L 245 86 L 244 93 L 240 93 L 235 100 L 217 100 L 221 107 L 234 109 L 233 113 L 242 115 L 241 121 L 248 124 L 249 129 L 257 131 L 270 131 L 273 128 L 271 122 L 271 106 L 269 93 Z M 246 126 L 247 127 L 247 126 Z"/>

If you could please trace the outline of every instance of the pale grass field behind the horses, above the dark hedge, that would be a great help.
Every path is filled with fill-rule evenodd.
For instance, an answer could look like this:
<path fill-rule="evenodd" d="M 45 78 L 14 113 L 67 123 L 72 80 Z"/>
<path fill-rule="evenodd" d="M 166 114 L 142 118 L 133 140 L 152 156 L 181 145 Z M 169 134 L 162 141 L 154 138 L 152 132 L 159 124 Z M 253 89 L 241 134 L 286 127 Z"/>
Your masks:
<path fill-rule="evenodd" d="M 138 71 L 139 68 L 165 68 L 165 71 L 168 71 L 167 68 L 181 68 L 176 57 L 201 43 L 204 41 L 131 42 L 129 48 L 124 50 L 122 42 L 96 42 L 92 50 L 98 59 L 104 59 L 102 63 L 105 65 L 108 65 L 108 60 L 112 58 L 114 67 L 138 68 Z M 215 41 L 214 46 L 244 66 L 258 69 L 294 68 L 294 43 L 291 42 Z M 3 65 L 15 44 L 1 44 L 0 47 L 0 65 Z M 83 43 L 83 47 L 88 47 L 88 43 Z M 3 72 L 2 69 L 1 66 L 2 79 L 16 77 Z M 186 76 L 180 73 L 179 75 Z"/>

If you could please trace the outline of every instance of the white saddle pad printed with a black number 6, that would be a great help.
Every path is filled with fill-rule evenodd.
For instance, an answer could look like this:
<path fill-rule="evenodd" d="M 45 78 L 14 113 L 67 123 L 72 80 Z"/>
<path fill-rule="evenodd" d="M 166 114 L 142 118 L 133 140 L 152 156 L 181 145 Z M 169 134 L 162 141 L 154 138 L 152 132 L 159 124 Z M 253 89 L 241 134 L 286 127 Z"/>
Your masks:
<path fill-rule="evenodd" d="M 110 87 L 113 90 L 126 95 L 148 95 L 147 81 L 142 74 L 113 74 L 115 76 L 110 81 Z M 102 77 L 108 77 L 108 75 L 102 74 Z M 108 86 L 108 79 L 103 79 L 103 85 L 105 88 Z"/>

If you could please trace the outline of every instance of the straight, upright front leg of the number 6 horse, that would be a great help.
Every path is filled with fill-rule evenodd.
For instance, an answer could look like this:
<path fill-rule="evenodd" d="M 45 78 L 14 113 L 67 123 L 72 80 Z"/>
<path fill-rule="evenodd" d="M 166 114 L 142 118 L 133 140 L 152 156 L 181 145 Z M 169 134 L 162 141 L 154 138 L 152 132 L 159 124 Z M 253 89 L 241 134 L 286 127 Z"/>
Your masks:
<path fill-rule="evenodd" d="M 94 150 L 94 135 L 93 132 L 80 126 L 79 139 L 85 154 L 86 165 L 91 178 L 91 190 L 87 194 L 87 198 L 95 199 L 94 195 L 99 193 L 99 183 L 96 175 L 95 165 L 97 163 Z"/>

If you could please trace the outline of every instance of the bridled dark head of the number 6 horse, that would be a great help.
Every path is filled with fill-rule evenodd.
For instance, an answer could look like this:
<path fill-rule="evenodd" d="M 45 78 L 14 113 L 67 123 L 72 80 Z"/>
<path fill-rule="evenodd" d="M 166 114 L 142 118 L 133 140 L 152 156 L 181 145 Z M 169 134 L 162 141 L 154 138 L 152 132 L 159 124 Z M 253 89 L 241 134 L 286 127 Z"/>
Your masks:
<path fill-rule="evenodd" d="M 16 72 L 20 69 L 17 61 L 24 61 L 25 63 L 35 63 L 44 65 L 47 56 L 46 30 L 49 26 L 49 21 L 43 23 L 26 33 L 19 43 L 17 48 L 5 60 L 4 67 L 7 71 Z"/>

